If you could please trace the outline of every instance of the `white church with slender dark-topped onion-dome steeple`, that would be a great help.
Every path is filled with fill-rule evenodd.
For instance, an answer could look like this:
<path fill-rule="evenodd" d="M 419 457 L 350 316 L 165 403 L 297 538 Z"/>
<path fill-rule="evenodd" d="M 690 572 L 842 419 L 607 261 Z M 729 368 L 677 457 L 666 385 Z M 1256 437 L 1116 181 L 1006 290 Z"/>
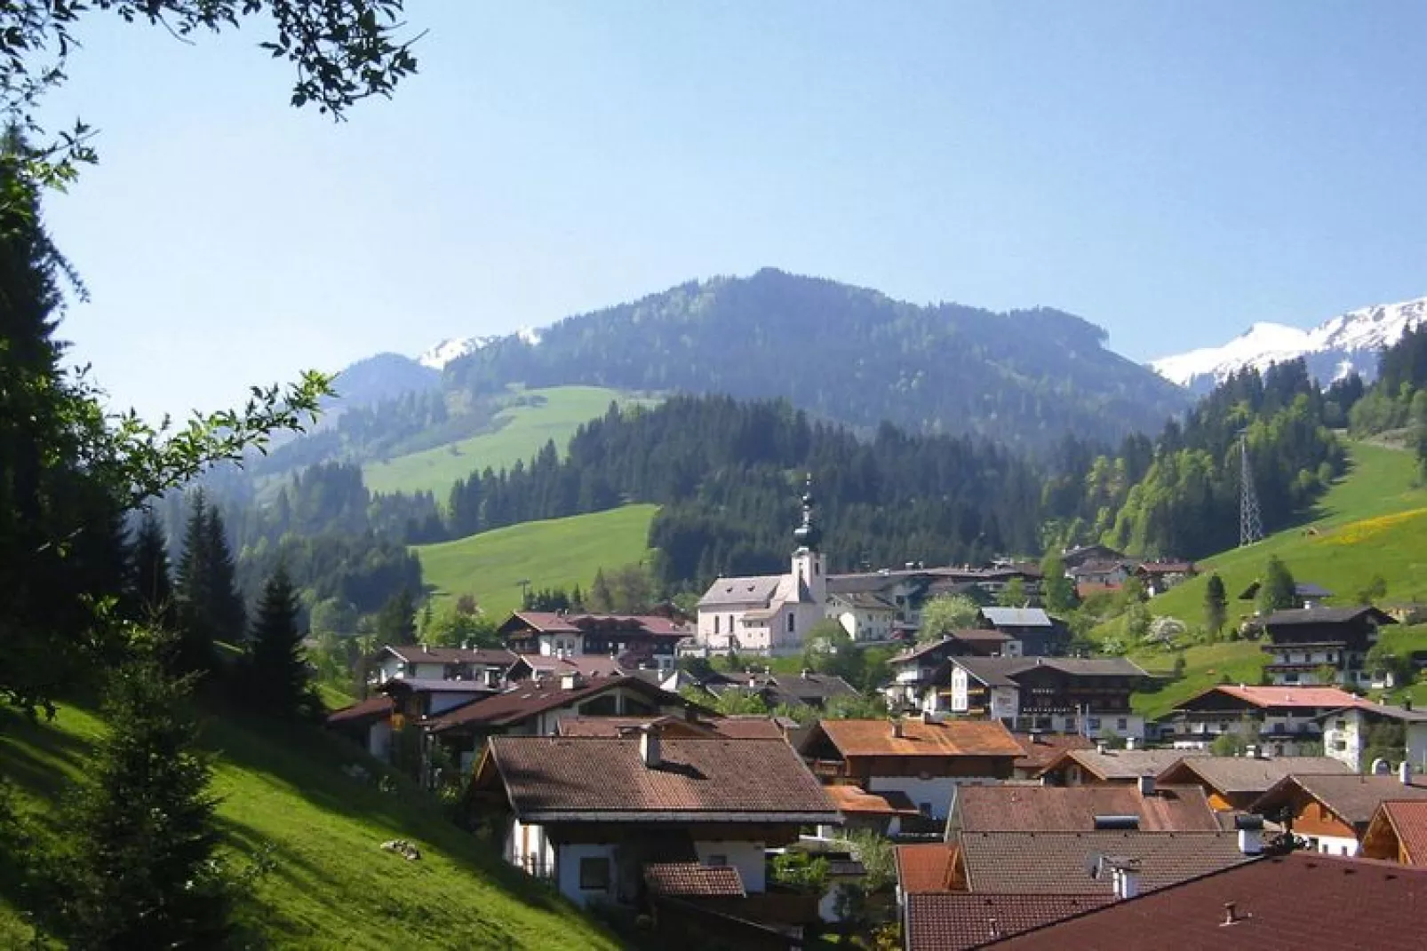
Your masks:
<path fill-rule="evenodd" d="M 715 580 L 699 599 L 696 643 L 715 653 L 781 656 L 801 650 L 803 636 L 826 616 L 828 572 L 821 542 L 809 479 L 789 572 Z"/>

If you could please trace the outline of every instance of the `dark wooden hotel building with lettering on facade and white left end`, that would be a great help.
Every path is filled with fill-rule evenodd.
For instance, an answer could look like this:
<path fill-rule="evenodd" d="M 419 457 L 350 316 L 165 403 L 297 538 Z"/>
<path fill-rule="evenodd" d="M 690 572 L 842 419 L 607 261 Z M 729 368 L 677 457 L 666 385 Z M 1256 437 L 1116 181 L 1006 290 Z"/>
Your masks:
<path fill-rule="evenodd" d="M 1123 657 L 950 657 L 945 709 L 1022 731 L 1144 737 L 1130 694 L 1150 676 Z"/>

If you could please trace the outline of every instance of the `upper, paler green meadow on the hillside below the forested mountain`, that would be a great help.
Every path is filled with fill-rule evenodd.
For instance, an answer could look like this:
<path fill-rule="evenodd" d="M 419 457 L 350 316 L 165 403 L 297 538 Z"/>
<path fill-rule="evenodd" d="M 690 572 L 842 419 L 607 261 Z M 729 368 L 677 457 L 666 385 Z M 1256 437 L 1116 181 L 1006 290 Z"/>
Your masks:
<path fill-rule="evenodd" d="M 638 402 L 628 394 L 604 386 L 552 386 L 524 391 L 519 396 L 535 399 L 537 405 L 501 411 L 495 416 L 498 428 L 492 432 L 385 462 L 368 462 L 362 466 L 367 488 L 372 492 L 430 489 L 445 505 L 451 485 L 472 471 L 485 466 L 501 469 L 518 459 L 529 461 L 548 439 L 554 439 L 564 452 L 579 423 L 602 416 L 611 402 Z"/>

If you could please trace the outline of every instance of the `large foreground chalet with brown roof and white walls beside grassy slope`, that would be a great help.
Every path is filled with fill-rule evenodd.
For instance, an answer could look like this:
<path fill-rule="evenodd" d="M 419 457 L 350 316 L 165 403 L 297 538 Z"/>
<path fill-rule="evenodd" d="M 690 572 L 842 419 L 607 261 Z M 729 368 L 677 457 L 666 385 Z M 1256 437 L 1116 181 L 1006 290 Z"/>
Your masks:
<path fill-rule="evenodd" d="M 651 865 L 668 863 L 731 870 L 721 888 L 732 893 L 736 875 L 756 895 L 768 848 L 839 821 L 782 740 L 498 736 L 471 788 L 504 830 L 505 860 L 581 905 L 639 907 Z"/>

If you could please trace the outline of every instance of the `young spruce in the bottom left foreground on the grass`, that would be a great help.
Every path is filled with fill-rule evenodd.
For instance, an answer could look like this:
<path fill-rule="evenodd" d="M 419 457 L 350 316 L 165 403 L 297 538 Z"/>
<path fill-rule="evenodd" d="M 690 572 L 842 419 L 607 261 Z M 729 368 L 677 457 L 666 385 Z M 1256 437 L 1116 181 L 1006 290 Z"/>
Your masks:
<path fill-rule="evenodd" d="M 111 677 L 108 734 L 70 807 L 54 878 L 73 947 L 218 947 L 231 893 L 215 858 L 213 776 L 191 679 L 131 662 Z"/>

